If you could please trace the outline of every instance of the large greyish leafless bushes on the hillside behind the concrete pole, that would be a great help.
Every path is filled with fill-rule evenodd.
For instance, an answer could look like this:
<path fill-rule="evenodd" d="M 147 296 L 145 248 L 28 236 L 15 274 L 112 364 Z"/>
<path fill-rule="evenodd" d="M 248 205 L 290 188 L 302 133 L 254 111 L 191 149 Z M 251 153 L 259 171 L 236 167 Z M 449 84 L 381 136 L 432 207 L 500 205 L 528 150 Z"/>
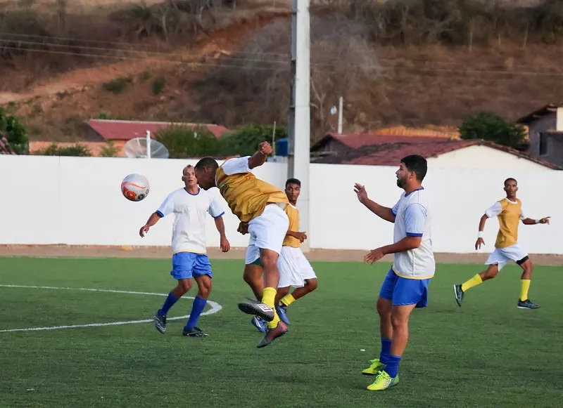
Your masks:
<path fill-rule="evenodd" d="M 286 124 L 290 75 L 290 24 L 273 22 L 198 84 L 197 117 L 227 126 L 245 122 Z M 341 16 L 311 19 L 311 111 L 314 139 L 336 127 L 331 106 L 343 96 L 346 121 L 362 122 L 372 108 L 381 67 L 365 27 Z M 214 96 L 211 98 L 210 96 Z"/>

